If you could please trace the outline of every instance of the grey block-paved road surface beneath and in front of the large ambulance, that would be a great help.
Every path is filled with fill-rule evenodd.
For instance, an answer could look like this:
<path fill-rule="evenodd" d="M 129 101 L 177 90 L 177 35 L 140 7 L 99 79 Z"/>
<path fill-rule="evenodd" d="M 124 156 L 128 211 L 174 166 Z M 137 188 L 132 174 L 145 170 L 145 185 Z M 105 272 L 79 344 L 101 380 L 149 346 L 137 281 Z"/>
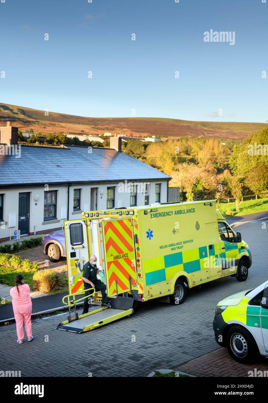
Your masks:
<path fill-rule="evenodd" d="M 129 318 L 84 334 L 55 330 L 66 313 L 34 320 L 34 340 L 27 343 L 25 337 L 22 345 L 16 343 L 14 324 L 0 326 L 0 370 L 20 370 L 21 376 L 147 376 L 219 349 L 212 329 L 218 301 L 268 278 L 268 223 L 262 226 L 253 222 L 235 228 L 252 253 L 246 282 L 216 280 L 190 290 L 180 306 L 144 303 Z"/>

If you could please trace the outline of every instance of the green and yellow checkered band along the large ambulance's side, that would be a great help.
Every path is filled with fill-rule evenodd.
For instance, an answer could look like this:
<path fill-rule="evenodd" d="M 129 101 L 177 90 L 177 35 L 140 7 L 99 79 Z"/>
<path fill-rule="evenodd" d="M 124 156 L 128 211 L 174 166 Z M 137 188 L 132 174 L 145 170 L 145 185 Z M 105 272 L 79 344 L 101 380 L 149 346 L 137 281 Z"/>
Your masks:
<path fill-rule="evenodd" d="M 218 253 L 216 256 L 217 244 L 212 245 L 209 249 L 209 257 L 213 264 L 218 266 Z M 161 281 L 172 278 L 178 271 L 185 271 L 188 274 L 204 270 L 207 267 L 208 251 L 207 247 L 199 247 L 187 251 L 171 253 L 145 260 L 145 280 L 146 285 L 160 283 Z M 206 259 L 206 262 L 205 262 Z M 206 267 L 205 267 L 206 264 Z M 158 269 L 153 268 L 157 266 Z"/>

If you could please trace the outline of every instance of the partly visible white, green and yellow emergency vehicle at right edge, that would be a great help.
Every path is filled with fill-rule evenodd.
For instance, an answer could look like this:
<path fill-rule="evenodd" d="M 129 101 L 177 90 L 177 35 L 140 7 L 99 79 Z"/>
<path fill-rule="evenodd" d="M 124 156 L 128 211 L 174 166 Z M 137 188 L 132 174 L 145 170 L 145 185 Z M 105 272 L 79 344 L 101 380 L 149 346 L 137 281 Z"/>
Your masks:
<path fill-rule="evenodd" d="M 268 281 L 220 301 L 213 329 L 216 342 L 237 361 L 268 357 Z"/>

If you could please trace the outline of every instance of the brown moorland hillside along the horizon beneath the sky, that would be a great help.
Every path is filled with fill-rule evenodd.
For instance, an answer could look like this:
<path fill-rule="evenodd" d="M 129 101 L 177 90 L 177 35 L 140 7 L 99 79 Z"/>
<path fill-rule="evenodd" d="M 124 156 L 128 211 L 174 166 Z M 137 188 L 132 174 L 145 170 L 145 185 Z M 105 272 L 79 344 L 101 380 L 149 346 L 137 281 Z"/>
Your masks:
<path fill-rule="evenodd" d="M 49 112 L 8 104 L 0 104 L 0 125 L 12 125 L 21 131 L 32 128 L 41 133 L 87 133 L 104 134 L 132 133 L 133 136 L 156 135 L 161 137 L 213 137 L 221 139 L 242 139 L 249 133 L 264 127 L 265 123 L 243 122 L 195 122 L 167 118 L 91 118 L 63 113 Z"/>

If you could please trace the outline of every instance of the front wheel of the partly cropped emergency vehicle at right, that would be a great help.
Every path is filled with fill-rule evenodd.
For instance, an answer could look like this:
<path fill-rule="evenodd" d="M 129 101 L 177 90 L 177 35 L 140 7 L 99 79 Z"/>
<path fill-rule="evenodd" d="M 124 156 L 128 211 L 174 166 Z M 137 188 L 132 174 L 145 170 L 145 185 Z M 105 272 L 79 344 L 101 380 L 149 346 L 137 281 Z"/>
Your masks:
<path fill-rule="evenodd" d="M 260 355 L 255 339 L 243 326 L 234 326 L 228 331 L 227 347 L 231 356 L 241 363 L 256 361 Z"/>

